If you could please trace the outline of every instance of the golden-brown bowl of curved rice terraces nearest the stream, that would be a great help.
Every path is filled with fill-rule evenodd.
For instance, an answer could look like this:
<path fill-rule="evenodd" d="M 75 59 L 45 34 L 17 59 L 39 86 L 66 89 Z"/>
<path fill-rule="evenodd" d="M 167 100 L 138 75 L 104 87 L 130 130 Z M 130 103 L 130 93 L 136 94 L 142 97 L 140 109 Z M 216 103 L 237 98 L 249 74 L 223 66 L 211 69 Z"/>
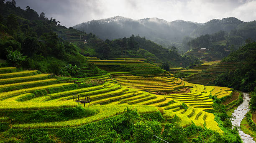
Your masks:
<path fill-rule="evenodd" d="M 210 95 L 222 98 L 230 95 L 232 92 L 229 88 L 225 87 L 221 89 L 217 86 L 190 84 L 181 79 L 174 78 L 173 74 L 169 74 L 168 72 L 155 74 L 153 77 L 150 75 L 145 77 L 115 73 L 112 74 L 112 77 L 122 86 L 147 91 L 151 94 L 158 94 L 166 99 L 182 101 L 188 106 L 201 110 L 213 109 L 212 99 L 209 98 Z"/>

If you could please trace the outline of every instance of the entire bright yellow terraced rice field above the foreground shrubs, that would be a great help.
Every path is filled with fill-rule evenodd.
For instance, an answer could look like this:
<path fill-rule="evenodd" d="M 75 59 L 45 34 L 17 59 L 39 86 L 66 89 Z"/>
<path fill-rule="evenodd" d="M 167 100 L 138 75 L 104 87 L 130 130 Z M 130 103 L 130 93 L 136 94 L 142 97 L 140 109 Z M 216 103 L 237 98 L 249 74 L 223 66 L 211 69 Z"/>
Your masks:
<path fill-rule="evenodd" d="M 9 75 L 15 75 L 15 77 Z M 83 106 L 72 99 L 73 95 L 79 94 L 80 100 L 90 96 L 89 109 L 98 111 L 87 118 L 59 122 L 14 123 L 12 128 L 81 126 L 123 113 L 124 108 L 128 106 L 137 108 L 138 113 L 161 110 L 166 120 L 177 116 L 184 127 L 193 121 L 198 126 L 205 125 L 207 128 L 222 132 L 214 121 L 214 115 L 205 110 L 212 109 L 210 94 L 221 98 L 226 95 L 225 93 L 230 92 L 228 88 L 223 87 L 189 84 L 174 78 L 173 74 L 168 72 L 147 76 L 146 74 L 134 76 L 131 73 L 121 72 L 80 79 L 81 82 L 92 79 L 105 81 L 104 84 L 92 87 L 83 87 L 83 83 L 61 83 L 64 79 L 51 79 L 48 74 L 38 74 L 37 71 L 5 73 L 2 77 L 0 89 L 1 87 L 9 88 L 9 91 L 0 92 L 0 110 L 36 111 Z M 117 81 L 118 84 L 113 81 Z M 184 105 L 188 108 L 184 108 Z M 8 117 L 1 118 L 11 120 Z"/>

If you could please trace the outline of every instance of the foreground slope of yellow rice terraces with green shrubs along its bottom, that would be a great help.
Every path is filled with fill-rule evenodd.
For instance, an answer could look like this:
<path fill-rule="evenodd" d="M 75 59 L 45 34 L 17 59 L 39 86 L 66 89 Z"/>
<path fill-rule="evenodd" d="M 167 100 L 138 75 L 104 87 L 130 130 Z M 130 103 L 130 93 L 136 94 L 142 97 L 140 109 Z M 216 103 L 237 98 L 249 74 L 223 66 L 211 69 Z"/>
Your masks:
<path fill-rule="evenodd" d="M 220 124 L 214 121 L 214 115 L 205 111 L 213 109 L 214 103 L 209 96 L 221 99 L 232 93 L 228 88 L 189 84 L 169 73 L 134 76 L 132 73 L 115 72 L 110 75 L 116 81 L 110 76 L 95 76 L 78 79 L 74 83 L 69 82 L 74 78 L 52 78 L 49 74 L 40 74 L 38 71 L 19 72 L 15 67 L 0 68 L 0 72 L 3 73 L 0 74 L 0 98 L 3 105 L 0 111 L 1 131 L 12 136 L 1 137 L 4 142 L 40 140 L 39 142 L 69 143 L 88 142 L 89 139 L 97 142 L 104 138 L 112 143 L 113 140 L 138 141 L 140 138 L 136 137 L 137 134 L 142 133 L 140 136 L 145 136 L 148 131 L 166 141 L 173 141 L 169 138 L 170 134 L 161 135 L 161 131 L 169 132 L 169 126 L 173 126 L 169 123 L 177 121 L 179 124 L 174 123 L 175 128 L 181 131 L 181 127 L 184 127 L 184 131 L 194 128 L 196 131 L 189 135 L 184 134 L 184 140 L 188 136 L 198 136 L 198 132 L 214 130 L 214 134 L 207 137 L 208 139 L 223 133 Z M 98 80 L 98 84 L 88 87 L 86 83 L 94 80 Z M 79 97 L 75 96 L 77 94 Z M 83 108 L 88 104 L 77 104 L 77 98 L 90 98 L 90 108 Z M 132 111 L 133 108 L 136 110 Z M 143 128 L 138 123 L 144 128 L 151 126 L 152 129 L 138 131 Z M 161 123 L 166 124 L 165 128 L 162 129 Z M 100 128 L 96 129 L 94 126 Z M 94 136 L 91 136 L 92 133 Z M 79 138 L 87 134 L 90 136 Z M 157 139 L 147 139 L 147 143 L 151 141 Z"/>

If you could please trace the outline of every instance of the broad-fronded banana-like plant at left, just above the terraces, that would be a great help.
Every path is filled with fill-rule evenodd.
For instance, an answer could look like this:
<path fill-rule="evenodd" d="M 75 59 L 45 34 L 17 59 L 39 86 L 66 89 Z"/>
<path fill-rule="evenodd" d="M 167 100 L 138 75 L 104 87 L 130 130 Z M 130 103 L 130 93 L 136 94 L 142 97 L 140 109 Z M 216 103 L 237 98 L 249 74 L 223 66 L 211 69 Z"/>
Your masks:
<path fill-rule="evenodd" d="M 20 66 L 21 62 L 26 61 L 27 56 L 23 56 L 23 54 L 21 54 L 18 50 L 12 51 L 11 49 L 7 49 L 7 53 L 6 58 L 15 67 Z"/>

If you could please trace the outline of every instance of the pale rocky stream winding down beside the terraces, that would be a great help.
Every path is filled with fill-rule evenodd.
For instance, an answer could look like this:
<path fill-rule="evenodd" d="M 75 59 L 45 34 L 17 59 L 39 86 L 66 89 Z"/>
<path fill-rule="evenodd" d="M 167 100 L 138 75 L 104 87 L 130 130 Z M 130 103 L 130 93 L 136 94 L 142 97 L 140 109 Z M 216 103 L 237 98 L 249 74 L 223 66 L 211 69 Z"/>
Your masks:
<path fill-rule="evenodd" d="M 243 103 L 238 106 L 234 113 L 232 113 L 233 117 L 236 117 L 232 122 L 233 126 L 239 126 L 240 123 L 245 117 L 245 114 L 249 111 L 249 102 L 251 97 L 248 93 L 243 93 Z M 253 138 L 250 135 L 243 133 L 243 131 L 239 130 L 239 136 L 241 136 L 243 143 L 256 143 L 253 141 Z"/>

